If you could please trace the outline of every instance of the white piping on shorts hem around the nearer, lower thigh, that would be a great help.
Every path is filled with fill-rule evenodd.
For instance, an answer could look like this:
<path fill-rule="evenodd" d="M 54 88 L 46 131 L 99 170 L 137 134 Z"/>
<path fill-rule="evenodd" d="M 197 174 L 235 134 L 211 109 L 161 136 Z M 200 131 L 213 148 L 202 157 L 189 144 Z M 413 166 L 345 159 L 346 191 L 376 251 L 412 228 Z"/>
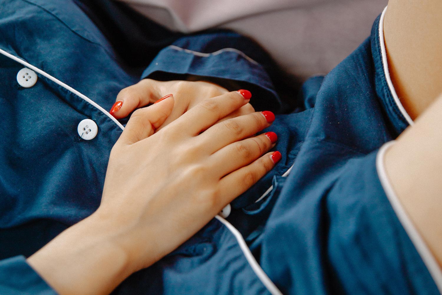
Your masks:
<path fill-rule="evenodd" d="M 436 259 L 434 259 L 433 254 L 431 254 L 427 245 L 423 241 L 423 238 L 420 236 L 419 232 L 414 227 L 412 221 L 410 220 L 410 218 L 407 215 L 407 212 L 405 212 L 404 208 L 402 207 L 399 199 L 396 196 L 396 193 L 394 192 L 394 190 L 390 184 L 387 173 L 385 172 L 384 155 L 385 155 L 386 150 L 389 147 L 391 147 L 394 142 L 395 141 L 385 143 L 381 147 L 379 152 L 377 153 L 377 157 L 376 157 L 377 174 L 379 176 L 379 180 L 381 180 L 382 188 L 384 188 L 385 195 L 387 195 L 387 198 L 389 199 L 389 202 L 390 202 L 394 212 L 396 213 L 397 218 L 399 219 L 400 223 L 404 227 L 405 232 L 408 234 L 408 237 L 410 237 L 410 240 L 412 241 L 413 245 L 415 246 L 420 257 L 422 258 L 423 263 L 427 267 L 428 272 L 430 272 L 430 275 L 433 278 L 434 283 L 438 287 L 439 292 L 442 294 L 442 271 L 441 271 L 441 268 L 438 266 Z"/>

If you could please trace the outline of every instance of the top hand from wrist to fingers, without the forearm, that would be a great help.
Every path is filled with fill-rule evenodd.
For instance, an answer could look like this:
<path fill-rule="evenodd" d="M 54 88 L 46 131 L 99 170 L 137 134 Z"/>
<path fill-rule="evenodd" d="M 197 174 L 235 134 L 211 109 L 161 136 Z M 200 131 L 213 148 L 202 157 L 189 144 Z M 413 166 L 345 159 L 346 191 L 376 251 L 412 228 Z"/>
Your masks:
<path fill-rule="evenodd" d="M 255 136 L 273 119 L 254 112 L 217 123 L 248 101 L 227 92 L 198 103 L 158 132 L 176 109 L 174 96 L 131 116 L 110 154 L 99 212 L 137 229 L 122 239 L 131 241 L 129 252 L 142 257 L 137 268 L 190 238 L 273 168 L 270 153 L 261 156 L 274 142 L 266 134 Z M 161 238 L 149 247 L 152 236 Z"/>

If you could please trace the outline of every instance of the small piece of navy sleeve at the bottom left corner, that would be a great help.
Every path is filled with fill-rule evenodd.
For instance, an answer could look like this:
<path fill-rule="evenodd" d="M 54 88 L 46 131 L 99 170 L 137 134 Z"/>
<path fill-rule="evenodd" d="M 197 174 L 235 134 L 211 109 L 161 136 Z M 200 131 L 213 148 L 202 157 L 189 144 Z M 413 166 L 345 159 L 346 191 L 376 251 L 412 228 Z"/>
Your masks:
<path fill-rule="evenodd" d="M 57 295 L 26 262 L 24 256 L 0 261 L 0 294 Z"/>

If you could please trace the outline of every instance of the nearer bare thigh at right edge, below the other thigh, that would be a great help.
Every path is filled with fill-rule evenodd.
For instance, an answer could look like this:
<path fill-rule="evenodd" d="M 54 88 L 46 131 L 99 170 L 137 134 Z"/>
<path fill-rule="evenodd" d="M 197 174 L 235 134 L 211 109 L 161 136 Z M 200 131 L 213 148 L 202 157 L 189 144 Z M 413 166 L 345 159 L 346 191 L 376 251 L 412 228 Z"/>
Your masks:
<path fill-rule="evenodd" d="M 442 266 L 442 98 L 419 116 L 385 154 L 392 187 Z"/>

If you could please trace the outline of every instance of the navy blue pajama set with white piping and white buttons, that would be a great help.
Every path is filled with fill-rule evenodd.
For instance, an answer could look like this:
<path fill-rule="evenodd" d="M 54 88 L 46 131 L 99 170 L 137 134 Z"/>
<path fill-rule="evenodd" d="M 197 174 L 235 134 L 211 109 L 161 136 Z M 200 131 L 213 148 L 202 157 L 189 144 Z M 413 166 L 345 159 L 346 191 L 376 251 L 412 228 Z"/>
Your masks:
<path fill-rule="evenodd" d="M 182 35 L 130 13 L 101 0 L 2 1 L 0 294 L 56 294 L 26 257 L 99 206 L 127 122 L 106 110 L 148 77 L 250 90 L 257 110 L 277 113 L 265 131 L 278 134 L 282 160 L 228 217 L 113 294 L 439 294 L 441 270 L 383 168 L 413 123 L 389 78 L 383 15 L 327 76 L 283 100 L 270 58 L 248 39 Z"/>

